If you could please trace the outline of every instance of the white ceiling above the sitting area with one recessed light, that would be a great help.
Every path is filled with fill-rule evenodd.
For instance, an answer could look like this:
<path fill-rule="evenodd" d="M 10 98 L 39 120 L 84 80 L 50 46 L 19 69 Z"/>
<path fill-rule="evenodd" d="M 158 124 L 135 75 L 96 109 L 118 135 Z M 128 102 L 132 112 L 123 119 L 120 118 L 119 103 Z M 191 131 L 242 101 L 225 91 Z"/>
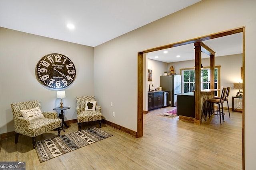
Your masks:
<path fill-rule="evenodd" d="M 0 0 L 0 27 L 96 47 L 199 1 Z"/>

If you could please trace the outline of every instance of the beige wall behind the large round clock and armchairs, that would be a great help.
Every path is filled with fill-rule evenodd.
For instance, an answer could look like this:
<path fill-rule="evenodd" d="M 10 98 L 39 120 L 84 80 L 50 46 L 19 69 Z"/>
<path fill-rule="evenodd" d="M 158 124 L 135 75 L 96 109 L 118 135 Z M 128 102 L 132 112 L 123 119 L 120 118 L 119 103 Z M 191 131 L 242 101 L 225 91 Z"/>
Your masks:
<path fill-rule="evenodd" d="M 71 107 L 64 111 L 65 120 L 77 119 L 76 96 L 94 95 L 93 47 L 0 27 L 1 133 L 14 131 L 11 103 L 39 100 L 43 111 L 59 106 L 57 92 L 44 88 L 35 75 L 38 61 L 50 53 L 67 56 L 76 67 L 76 79 L 63 99 Z"/>

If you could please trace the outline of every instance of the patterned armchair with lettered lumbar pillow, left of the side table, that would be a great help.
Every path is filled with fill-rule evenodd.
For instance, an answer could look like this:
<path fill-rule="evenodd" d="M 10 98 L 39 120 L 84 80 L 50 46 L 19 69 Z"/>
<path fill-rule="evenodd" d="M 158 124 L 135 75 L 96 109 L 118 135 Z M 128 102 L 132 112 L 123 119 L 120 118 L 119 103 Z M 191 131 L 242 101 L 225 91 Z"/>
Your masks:
<path fill-rule="evenodd" d="M 38 100 L 12 103 L 11 107 L 14 119 L 15 143 L 18 143 L 19 134 L 26 135 L 32 137 L 32 144 L 35 149 L 36 136 L 53 129 L 58 129 L 58 136 L 60 136 L 62 120 L 57 118 L 58 113 L 56 111 L 42 111 Z M 33 110 L 36 110 L 36 112 L 32 113 Z M 30 115 L 28 117 L 26 115 L 22 116 L 25 112 Z M 32 117 L 36 117 L 36 119 L 32 119 Z"/>

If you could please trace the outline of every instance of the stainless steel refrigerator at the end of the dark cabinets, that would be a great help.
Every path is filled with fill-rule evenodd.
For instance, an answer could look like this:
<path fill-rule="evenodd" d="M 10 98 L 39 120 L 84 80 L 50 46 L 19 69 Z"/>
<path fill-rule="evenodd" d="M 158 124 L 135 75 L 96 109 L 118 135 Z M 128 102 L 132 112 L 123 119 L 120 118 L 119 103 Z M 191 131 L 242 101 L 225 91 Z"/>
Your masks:
<path fill-rule="evenodd" d="M 180 75 L 169 75 L 160 76 L 160 86 L 162 90 L 170 91 L 170 106 L 177 106 L 177 95 L 181 93 L 181 76 Z"/>

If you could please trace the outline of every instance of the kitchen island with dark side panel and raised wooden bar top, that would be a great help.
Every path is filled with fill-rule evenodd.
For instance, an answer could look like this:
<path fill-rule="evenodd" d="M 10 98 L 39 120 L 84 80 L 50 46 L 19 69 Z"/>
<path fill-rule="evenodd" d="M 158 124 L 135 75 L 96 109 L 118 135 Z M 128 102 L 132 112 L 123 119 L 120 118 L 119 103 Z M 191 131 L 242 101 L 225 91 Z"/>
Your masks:
<path fill-rule="evenodd" d="M 201 113 L 200 114 L 200 120 L 195 119 L 195 105 L 193 104 L 195 102 L 195 95 L 194 92 L 188 92 L 188 93 L 182 93 L 177 94 L 177 115 L 179 116 L 180 120 L 186 120 L 193 122 L 195 124 L 201 124 L 202 119 L 204 119 L 204 112 L 206 111 L 207 102 L 206 100 L 208 98 L 214 97 L 214 92 L 218 91 L 218 89 L 204 89 L 201 90 Z"/>

